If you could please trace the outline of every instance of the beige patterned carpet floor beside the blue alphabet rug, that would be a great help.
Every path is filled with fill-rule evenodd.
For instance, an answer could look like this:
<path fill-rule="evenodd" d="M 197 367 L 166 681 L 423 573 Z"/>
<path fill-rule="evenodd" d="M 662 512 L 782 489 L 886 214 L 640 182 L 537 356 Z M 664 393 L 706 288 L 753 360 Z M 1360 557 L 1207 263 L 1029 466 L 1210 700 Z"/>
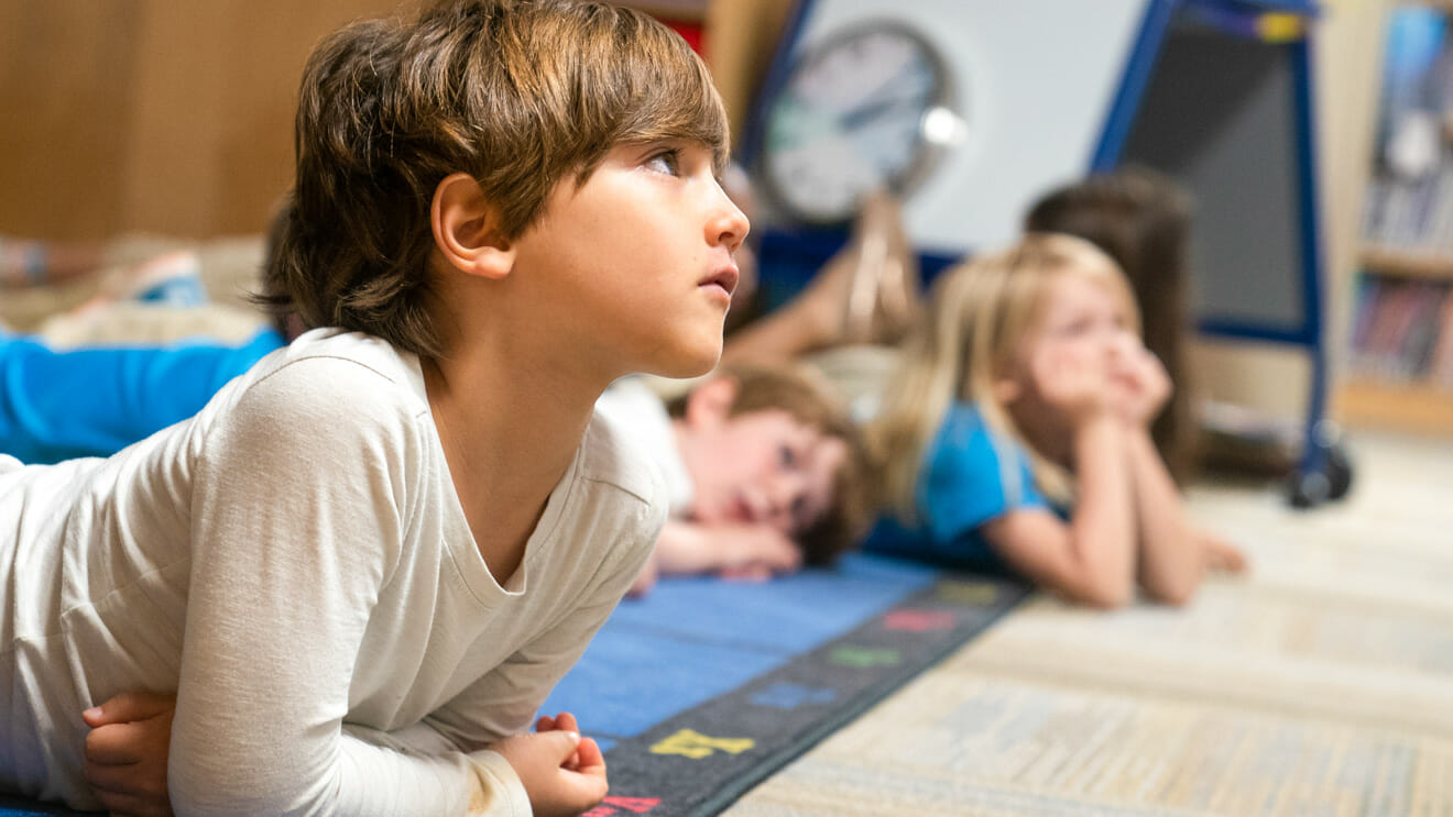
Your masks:
<path fill-rule="evenodd" d="M 1340 504 L 1205 483 L 1184 609 L 1030 601 L 731 817 L 1453 814 L 1453 441 L 1347 440 Z"/>

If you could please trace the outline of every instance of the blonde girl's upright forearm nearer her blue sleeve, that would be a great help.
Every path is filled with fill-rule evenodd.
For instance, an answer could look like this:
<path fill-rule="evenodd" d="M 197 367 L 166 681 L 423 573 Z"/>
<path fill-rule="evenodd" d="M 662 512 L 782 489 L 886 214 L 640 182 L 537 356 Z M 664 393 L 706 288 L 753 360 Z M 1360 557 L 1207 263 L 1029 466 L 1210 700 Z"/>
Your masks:
<path fill-rule="evenodd" d="M 1135 514 L 1123 425 L 1103 415 L 1075 434 L 1078 496 L 1071 537 L 1085 595 L 1107 607 L 1129 601 L 1135 586 Z"/>

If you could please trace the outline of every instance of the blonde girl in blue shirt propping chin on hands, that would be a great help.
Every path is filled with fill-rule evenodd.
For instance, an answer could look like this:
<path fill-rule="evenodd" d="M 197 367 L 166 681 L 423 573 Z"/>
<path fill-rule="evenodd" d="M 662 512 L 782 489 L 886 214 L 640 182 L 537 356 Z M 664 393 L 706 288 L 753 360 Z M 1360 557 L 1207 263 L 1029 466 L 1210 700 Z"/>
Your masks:
<path fill-rule="evenodd" d="M 1183 604 L 1212 546 L 1149 422 L 1171 383 L 1120 268 L 1030 234 L 943 274 L 869 427 L 892 520 L 869 547 L 998 563 L 1065 599 Z"/>

